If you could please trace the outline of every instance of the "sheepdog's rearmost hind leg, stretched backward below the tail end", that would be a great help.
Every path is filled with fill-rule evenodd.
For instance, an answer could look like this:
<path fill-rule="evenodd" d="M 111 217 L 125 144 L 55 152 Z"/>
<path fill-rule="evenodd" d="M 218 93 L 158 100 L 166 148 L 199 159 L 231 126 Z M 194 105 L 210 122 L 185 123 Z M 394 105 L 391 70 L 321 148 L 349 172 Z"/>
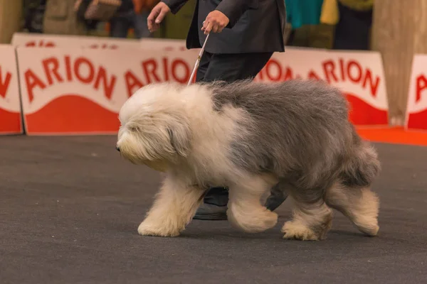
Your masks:
<path fill-rule="evenodd" d="M 352 220 L 362 233 L 378 234 L 379 198 L 368 187 L 349 187 L 337 182 L 326 191 L 325 202 Z"/>

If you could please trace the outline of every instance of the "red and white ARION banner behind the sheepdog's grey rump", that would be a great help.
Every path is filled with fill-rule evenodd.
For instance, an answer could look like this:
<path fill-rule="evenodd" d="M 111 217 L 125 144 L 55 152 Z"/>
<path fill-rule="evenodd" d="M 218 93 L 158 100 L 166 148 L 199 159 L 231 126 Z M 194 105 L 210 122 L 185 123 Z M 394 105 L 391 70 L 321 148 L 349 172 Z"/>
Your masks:
<path fill-rule="evenodd" d="M 381 54 L 371 51 L 286 48 L 275 53 L 259 81 L 296 78 L 325 80 L 347 96 L 350 120 L 357 126 L 387 126 L 389 105 Z"/>

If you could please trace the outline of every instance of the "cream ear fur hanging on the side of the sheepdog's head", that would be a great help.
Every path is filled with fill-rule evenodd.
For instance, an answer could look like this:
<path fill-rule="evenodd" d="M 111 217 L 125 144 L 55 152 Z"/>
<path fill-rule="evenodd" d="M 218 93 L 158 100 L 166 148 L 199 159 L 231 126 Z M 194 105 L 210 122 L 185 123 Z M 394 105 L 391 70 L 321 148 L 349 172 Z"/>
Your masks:
<path fill-rule="evenodd" d="M 191 131 L 189 125 L 184 121 L 176 122 L 167 127 L 172 148 L 178 155 L 186 157 L 191 143 Z"/>

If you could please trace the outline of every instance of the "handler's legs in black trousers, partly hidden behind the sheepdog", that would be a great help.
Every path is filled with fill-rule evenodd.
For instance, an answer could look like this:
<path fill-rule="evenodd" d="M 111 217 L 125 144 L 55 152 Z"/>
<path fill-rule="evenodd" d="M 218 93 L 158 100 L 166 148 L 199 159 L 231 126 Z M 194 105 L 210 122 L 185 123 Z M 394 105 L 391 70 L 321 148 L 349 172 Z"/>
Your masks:
<path fill-rule="evenodd" d="M 197 70 L 196 82 L 214 80 L 235 82 L 253 79 L 270 60 L 271 55 L 273 53 L 211 54 L 204 52 Z M 270 207 L 273 207 L 271 209 L 275 209 L 285 199 L 286 196 L 272 192 L 268 202 L 271 204 Z M 194 219 L 225 220 L 227 203 L 228 190 L 224 187 L 212 187 L 206 193 L 204 203 L 197 210 Z"/>

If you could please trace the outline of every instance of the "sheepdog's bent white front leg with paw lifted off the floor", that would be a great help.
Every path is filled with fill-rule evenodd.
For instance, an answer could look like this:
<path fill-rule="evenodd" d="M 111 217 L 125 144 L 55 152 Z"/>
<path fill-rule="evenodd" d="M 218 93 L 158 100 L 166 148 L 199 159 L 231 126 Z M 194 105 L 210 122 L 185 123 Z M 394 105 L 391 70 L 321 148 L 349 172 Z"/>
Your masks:
<path fill-rule="evenodd" d="M 238 180 L 229 186 L 227 217 L 243 231 L 257 233 L 272 228 L 278 222 L 278 214 L 260 203 L 264 192 L 277 180 L 268 175 L 255 175 Z"/>

